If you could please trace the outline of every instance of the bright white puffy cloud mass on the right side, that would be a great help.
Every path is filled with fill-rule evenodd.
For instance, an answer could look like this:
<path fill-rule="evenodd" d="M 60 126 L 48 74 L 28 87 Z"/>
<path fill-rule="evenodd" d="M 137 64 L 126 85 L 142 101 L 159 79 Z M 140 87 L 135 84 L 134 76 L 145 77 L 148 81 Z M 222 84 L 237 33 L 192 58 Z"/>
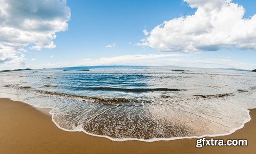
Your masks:
<path fill-rule="evenodd" d="M 138 45 L 168 52 L 256 50 L 256 14 L 244 18 L 243 6 L 231 0 L 183 1 L 195 14 L 164 21 Z"/>

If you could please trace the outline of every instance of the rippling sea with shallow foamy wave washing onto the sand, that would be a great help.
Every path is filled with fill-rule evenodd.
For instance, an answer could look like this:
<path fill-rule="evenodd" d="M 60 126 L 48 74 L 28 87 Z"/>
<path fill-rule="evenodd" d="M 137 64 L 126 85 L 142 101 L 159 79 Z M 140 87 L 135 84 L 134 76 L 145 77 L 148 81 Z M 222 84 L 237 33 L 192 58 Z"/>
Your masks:
<path fill-rule="evenodd" d="M 256 73 L 246 71 L 101 66 L 5 72 L 0 80 L 0 97 L 51 108 L 60 129 L 114 141 L 227 135 L 256 107 Z"/>

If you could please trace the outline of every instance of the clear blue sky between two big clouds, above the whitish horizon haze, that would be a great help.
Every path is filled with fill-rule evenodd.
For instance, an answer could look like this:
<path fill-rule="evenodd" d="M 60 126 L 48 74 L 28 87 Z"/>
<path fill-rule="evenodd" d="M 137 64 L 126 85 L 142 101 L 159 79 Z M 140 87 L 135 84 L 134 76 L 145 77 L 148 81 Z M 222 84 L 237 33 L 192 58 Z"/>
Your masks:
<path fill-rule="evenodd" d="M 155 49 L 134 46 L 144 37 L 144 28 L 151 30 L 164 20 L 191 14 L 182 1 L 68 1 L 71 8 L 69 30 L 57 33 L 55 49 L 31 51 L 28 59 L 36 62 L 112 57 L 126 54 L 158 54 Z M 116 42 L 114 49 L 105 46 Z M 129 42 L 132 44 L 129 45 Z M 53 59 L 49 59 L 53 55 Z M 44 57 L 44 58 L 42 58 Z M 36 63 L 35 62 L 35 63 Z"/>

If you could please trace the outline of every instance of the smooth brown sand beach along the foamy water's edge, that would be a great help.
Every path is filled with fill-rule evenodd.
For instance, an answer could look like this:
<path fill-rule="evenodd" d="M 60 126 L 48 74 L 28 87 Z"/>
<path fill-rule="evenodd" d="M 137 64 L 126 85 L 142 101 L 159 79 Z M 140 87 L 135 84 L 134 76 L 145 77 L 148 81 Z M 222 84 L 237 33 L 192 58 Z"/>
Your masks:
<path fill-rule="evenodd" d="M 248 146 L 196 148 L 196 139 L 115 142 L 59 129 L 46 112 L 22 102 L 0 99 L 0 153 L 256 153 L 256 109 L 251 121 L 228 136 L 247 139 Z"/>

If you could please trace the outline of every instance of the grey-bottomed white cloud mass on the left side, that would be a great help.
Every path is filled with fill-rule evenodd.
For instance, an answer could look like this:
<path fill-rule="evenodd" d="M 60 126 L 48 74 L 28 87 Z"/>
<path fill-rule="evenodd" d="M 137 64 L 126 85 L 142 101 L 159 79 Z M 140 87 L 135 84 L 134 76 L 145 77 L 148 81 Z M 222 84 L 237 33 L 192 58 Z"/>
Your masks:
<path fill-rule="evenodd" d="M 56 32 L 68 29 L 66 0 L 0 0 L 0 63 L 22 65 L 26 47 L 55 48 Z"/>

